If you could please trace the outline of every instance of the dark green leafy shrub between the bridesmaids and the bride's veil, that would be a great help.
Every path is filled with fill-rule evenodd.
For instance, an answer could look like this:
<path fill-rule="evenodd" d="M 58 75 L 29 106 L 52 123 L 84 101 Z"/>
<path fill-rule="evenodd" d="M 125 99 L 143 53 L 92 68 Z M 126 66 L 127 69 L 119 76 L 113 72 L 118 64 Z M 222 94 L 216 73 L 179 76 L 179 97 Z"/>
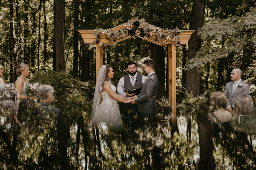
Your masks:
<path fill-rule="evenodd" d="M 81 82 L 73 78 L 68 72 L 38 71 L 32 78 L 31 82 L 38 82 L 43 85 L 51 85 L 54 89 L 53 106 L 60 107 L 60 103 L 67 100 L 68 94 L 72 92 L 68 89 L 76 89 L 81 85 Z"/>

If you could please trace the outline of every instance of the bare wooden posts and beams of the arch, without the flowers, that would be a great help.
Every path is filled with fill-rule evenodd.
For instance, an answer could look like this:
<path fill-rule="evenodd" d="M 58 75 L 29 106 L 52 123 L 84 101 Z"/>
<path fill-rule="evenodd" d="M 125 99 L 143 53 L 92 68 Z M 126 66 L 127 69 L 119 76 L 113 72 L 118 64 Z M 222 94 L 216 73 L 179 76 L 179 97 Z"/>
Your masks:
<path fill-rule="evenodd" d="M 127 25 L 128 23 L 124 23 L 120 26 L 116 26 L 114 28 L 111 28 L 110 30 L 119 30 L 124 28 L 124 25 Z M 150 24 L 148 24 L 150 25 Z M 154 26 L 157 28 L 156 26 Z M 96 37 L 93 35 L 93 32 L 96 32 L 95 30 L 78 30 L 79 33 L 81 33 L 82 38 L 84 40 L 85 44 L 89 45 L 96 45 L 96 80 L 98 73 L 100 71 L 100 67 L 103 65 L 103 45 L 112 45 L 121 41 L 124 41 L 126 39 L 131 38 L 131 36 L 126 36 L 120 39 L 117 39 L 115 42 L 111 41 L 109 42 L 106 38 L 100 38 L 100 42 L 103 43 L 103 45 L 99 45 L 99 43 L 94 43 Z M 168 33 L 168 30 L 161 29 L 161 32 Z M 180 33 L 180 44 L 178 46 L 182 46 L 184 44 L 188 44 L 188 40 L 190 39 L 190 35 L 194 31 L 182 31 Z M 139 38 L 142 38 L 140 36 L 136 36 Z M 169 113 L 172 111 L 172 126 L 176 124 L 176 46 L 174 45 L 174 41 L 166 41 L 166 38 L 163 40 L 159 40 L 158 42 L 155 41 L 155 38 L 148 38 L 147 34 L 142 39 L 147 40 L 149 42 L 155 43 L 157 45 L 161 46 L 168 46 L 168 63 L 167 67 L 169 68 Z M 93 42 L 94 41 L 94 42 Z M 172 110 L 171 110 L 172 109 Z"/>

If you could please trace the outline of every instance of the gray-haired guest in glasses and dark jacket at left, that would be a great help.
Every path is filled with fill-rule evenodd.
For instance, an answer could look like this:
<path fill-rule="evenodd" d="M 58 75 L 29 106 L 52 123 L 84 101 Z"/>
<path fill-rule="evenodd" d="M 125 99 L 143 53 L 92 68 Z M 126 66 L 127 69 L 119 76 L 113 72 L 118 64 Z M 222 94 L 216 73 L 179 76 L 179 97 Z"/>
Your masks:
<path fill-rule="evenodd" d="M 53 118 L 56 114 L 58 116 L 61 115 L 61 109 L 50 105 L 54 100 L 52 86 L 41 85 L 38 89 L 38 98 L 40 100 L 40 106 L 37 109 L 40 116 L 50 116 Z"/>

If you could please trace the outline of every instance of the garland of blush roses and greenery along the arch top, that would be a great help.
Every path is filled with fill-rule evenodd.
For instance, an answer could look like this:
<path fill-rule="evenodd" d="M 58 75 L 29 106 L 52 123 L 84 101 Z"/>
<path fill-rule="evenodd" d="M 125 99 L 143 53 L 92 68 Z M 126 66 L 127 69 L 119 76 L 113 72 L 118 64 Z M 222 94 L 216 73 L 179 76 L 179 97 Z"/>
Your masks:
<path fill-rule="evenodd" d="M 144 38 L 146 36 L 148 38 L 154 38 L 154 41 L 157 41 L 158 44 L 159 41 L 165 40 L 167 44 L 167 41 L 173 41 L 175 46 L 180 44 L 180 36 L 179 34 L 182 33 L 178 28 L 176 29 L 169 29 L 167 33 L 164 33 L 161 31 L 161 27 L 154 27 L 152 25 L 149 25 L 145 22 L 145 19 L 139 20 L 138 17 L 135 19 L 128 20 L 128 24 L 124 25 L 124 28 L 118 29 L 117 31 L 113 29 L 112 31 L 110 29 L 102 29 L 102 28 L 96 28 L 94 29 L 96 32 L 93 32 L 93 35 L 97 38 L 93 43 L 99 43 L 99 46 L 102 46 L 103 43 L 100 42 L 100 38 L 106 38 L 109 41 L 109 44 L 111 44 L 112 41 L 116 42 L 116 40 L 120 40 L 127 36 L 140 36 Z M 100 35 L 101 34 L 101 35 Z M 166 39 L 165 39 L 166 37 Z"/>

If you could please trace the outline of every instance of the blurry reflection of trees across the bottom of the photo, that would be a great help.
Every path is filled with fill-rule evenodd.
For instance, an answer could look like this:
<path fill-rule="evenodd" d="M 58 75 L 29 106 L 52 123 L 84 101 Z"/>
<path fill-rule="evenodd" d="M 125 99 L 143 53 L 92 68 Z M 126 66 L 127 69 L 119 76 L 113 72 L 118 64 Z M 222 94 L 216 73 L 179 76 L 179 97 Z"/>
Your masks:
<path fill-rule="evenodd" d="M 87 131 L 90 119 L 71 122 L 47 104 L 25 99 L 17 120 L 6 126 L 13 104 L 1 107 L 7 108 L 1 110 L 2 169 L 255 169 L 255 127 L 241 133 L 237 119 L 208 124 L 180 114 L 174 131 L 161 114 L 151 120 L 124 108 L 123 131 L 104 124 Z M 248 126 L 240 122 L 239 128 Z"/>

